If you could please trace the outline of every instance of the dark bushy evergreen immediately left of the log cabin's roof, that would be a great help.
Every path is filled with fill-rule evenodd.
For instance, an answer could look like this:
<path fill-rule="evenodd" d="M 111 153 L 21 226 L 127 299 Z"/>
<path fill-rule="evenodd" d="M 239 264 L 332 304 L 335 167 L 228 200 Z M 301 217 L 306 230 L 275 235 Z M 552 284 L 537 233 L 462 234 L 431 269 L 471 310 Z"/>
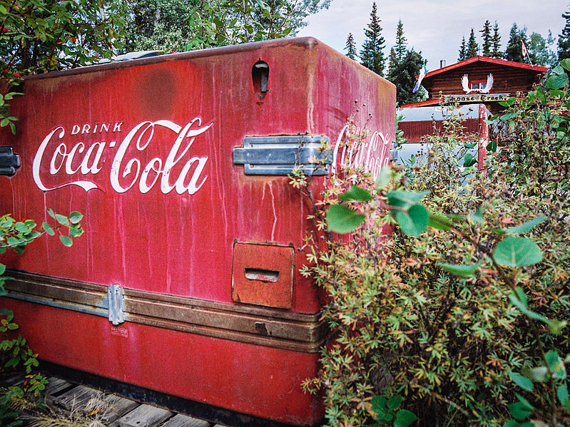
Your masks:
<path fill-rule="evenodd" d="M 394 52 L 393 55 L 392 52 Z M 392 57 L 397 57 L 395 49 L 392 49 L 390 52 L 390 58 Z M 393 61 L 390 61 L 391 65 L 387 79 L 396 86 L 396 103 L 398 106 L 425 99 L 424 88 L 420 87 L 419 91 L 412 93 L 416 84 L 416 76 L 419 75 L 419 71 L 424 66 L 424 63 L 425 60 L 422 58 L 422 53 L 415 52 L 413 48 L 411 51 L 407 51 L 402 61 L 399 61 L 395 66 L 393 66 Z"/>

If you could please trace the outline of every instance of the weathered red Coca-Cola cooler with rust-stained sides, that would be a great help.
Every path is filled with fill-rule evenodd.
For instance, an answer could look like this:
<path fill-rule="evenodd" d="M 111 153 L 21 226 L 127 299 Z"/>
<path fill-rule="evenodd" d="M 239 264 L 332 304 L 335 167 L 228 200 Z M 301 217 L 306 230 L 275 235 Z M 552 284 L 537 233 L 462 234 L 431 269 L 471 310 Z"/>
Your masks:
<path fill-rule="evenodd" d="M 350 117 L 370 129 L 356 161 L 376 173 L 395 87 L 290 38 L 47 73 L 23 91 L 16 135 L 1 133 L 21 168 L 0 177 L 0 213 L 79 211 L 86 230 L 0 258 L 14 277 L 1 304 L 34 351 L 238 413 L 322 418 L 301 388 L 325 339 L 299 273 L 312 203 L 287 174 L 313 175 L 317 195 Z"/>

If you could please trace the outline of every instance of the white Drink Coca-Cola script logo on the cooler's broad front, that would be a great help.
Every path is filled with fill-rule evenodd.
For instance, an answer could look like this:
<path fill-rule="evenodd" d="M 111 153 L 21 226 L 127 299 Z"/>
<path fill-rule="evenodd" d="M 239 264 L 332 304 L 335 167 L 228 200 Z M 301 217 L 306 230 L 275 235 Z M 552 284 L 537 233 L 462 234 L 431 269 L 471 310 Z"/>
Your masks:
<path fill-rule="evenodd" d="M 72 125 L 68 133 L 60 125 L 44 137 L 36 151 L 32 168 L 34 182 L 43 191 L 69 185 L 85 191 L 103 190 L 110 184 L 118 193 L 138 190 L 144 194 L 158 187 L 163 194 L 174 190 L 179 195 L 192 195 L 208 179 L 204 173 L 208 156 L 192 155 L 191 148 L 196 138 L 212 125 L 213 122 L 203 125 L 201 118 L 194 118 L 183 126 L 170 120 L 143 121 L 131 128 L 122 140 L 117 138 L 123 134 L 122 122 Z M 97 134 L 105 135 L 106 140 L 89 141 Z M 165 144 L 170 147 L 168 154 L 148 160 L 147 150 L 155 153 L 153 145 Z M 109 153 L 111 150 L 114 154 Z M 109 167 L 106 160 L 111 157 Z M 103 184 L 101 180 L 108 183 Z M 54 181 L 57 183 L 53 184 Z"/>

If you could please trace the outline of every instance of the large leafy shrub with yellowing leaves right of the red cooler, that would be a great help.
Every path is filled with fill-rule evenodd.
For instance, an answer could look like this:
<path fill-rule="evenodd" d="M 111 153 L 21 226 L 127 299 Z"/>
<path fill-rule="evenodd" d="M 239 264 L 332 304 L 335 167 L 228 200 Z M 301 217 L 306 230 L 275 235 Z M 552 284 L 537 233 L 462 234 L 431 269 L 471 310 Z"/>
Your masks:
<path fill-rule="evenodd" d="M 568 62 L 491 118 L 507 131 L 484 170 L 454 158 L 472 140 L 450 120 L 411 168 L 327 183 L 322 230 L 358 227 L 303 269 L 330 295 L 330 343 L 305 381 L 330 425 L 412 422 L 395 409 L 422 426 L 569 425 Z M 378 402 L 398 396 L 384 418 Z"/>

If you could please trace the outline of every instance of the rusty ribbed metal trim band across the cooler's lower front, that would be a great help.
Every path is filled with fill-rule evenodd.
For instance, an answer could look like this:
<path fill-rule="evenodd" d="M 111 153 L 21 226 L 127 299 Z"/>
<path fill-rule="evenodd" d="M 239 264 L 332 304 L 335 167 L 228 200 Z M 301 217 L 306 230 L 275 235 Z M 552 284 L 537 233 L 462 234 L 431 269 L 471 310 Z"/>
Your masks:
<path fill-rule="evenodd" d="M 290 269 L 290 266 L 289 266 Z M 107 317 L 105 286 L 9 271 L 9 297 Z M 125 318 L 138 324 L 290 351 L 316 352 L 325 339 L 319 314 L 204 302 L 123 289 Z M 284 316 L 285 314 L 285 316 Z"/>

